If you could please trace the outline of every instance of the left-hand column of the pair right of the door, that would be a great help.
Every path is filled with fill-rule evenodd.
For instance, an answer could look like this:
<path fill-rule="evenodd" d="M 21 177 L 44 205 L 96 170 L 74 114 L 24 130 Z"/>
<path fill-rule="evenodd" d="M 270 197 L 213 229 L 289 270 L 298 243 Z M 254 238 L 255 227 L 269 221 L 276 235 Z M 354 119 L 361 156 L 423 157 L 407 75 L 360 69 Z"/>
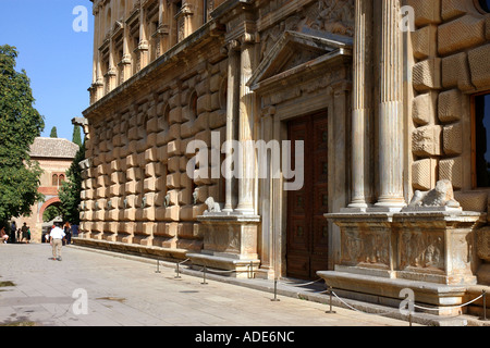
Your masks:
<path fill-rule="evenodd" d="M 356 0 L 354 84 L 352 112 L 352 201 L 348 208 L 365 209 L 371 196 L 370 114 L 372 74 L 372 3 Z"/>

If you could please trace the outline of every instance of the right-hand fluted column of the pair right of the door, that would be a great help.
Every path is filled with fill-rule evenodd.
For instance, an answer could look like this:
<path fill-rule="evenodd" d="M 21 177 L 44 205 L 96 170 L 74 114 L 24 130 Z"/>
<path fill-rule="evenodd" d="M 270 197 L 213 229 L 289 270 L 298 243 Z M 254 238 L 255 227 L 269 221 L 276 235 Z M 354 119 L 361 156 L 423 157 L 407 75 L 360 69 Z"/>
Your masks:
<path fill-rule="evenodd" d="M 379 182 L 376 207 L 399 210 L 403 196 L 403 36 L 400 0 L 382 0 L 379 104 Z"/>

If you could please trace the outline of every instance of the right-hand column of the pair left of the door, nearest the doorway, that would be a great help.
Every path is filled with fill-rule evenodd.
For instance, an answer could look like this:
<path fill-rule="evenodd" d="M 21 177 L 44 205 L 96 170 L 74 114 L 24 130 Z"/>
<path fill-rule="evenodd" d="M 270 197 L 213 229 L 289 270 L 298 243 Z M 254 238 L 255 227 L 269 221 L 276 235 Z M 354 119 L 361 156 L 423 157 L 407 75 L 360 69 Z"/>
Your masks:
<path fill-rule="evenodd" d="M 238 177 L 238 204 L 236 211 L 254 214 L 255 148 L 250 146 L 254 129 L 255 96 L 246 85 L 252 77 L 254 63 L 254 36 L 245 34 L 242 40 L 240 65 L 240 127 L 238 140 L 243 158 Z"/>

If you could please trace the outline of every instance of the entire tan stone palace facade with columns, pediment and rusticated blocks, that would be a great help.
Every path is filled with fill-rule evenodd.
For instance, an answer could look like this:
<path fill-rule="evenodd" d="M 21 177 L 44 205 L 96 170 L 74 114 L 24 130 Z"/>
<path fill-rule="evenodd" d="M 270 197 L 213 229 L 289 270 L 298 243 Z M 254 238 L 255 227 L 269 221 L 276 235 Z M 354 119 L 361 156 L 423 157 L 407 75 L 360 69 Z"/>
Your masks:
<path fill-rule="evenodd" d="M 323 270 L 333 284 L 344 274 L 339 286 L 376 296 L 387 277 L 448 286 L 485 278 L 488 260 L 465 253 L 488 238 L 475 237 L 487 191 L 473 183 L 470 98 L 490 89 L 490 22 L 476 4 L 95 0 L 77 243 L 189 258 L 236 276 L 252 264 L 269 278 L 289 275 L 297 251 L 313 270 L 305 277 Z M 400 29 L 403 5 L 412 32 Z M 321 133 L 308 128 L 318 114 Z M 193 140 L 211 153 L 198 172 L 231 153 L 225 141 L 282 144 L 302 127 L 305 160 L 328 146 L 305 169 L 301 192 L 284 189 L 283 167 L 272 175 L 271 157 L 249 149 L 238 177 L 187 175 Z M 209 173 L 223 169 L 212 165 Z M 440 181 L 460 209 L 407 208 Z M 373 286 L 356 288 L 359 273 Z M 441 293 L 429 293 L 439 303 Z M 451 294 L 457 301 L 466 293 Z"/>

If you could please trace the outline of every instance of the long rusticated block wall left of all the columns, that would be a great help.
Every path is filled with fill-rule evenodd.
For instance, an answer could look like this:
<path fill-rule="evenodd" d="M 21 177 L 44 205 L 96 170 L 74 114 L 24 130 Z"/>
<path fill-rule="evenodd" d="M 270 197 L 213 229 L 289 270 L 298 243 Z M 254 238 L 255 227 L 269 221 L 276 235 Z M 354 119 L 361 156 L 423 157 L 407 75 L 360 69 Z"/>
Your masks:
<path fill-rule="evenodd" d="M 211 132 L 224 140 L 228 69 L 220 41 L 206 45 L 207 54 L 182 52 L 188 61 L 169 62 L 164 73 L 156 67 L 146 88 L 118 90 L 110 107 L 87 111 L 82 238 L 170 248 L 179 256 L 200 250 L 196 217 L 206 198 L 223 201 L 222 182 L 193 183 L 186 165 L 194 153 L 186 149 L 193 139 L 211 144 Z"/>

